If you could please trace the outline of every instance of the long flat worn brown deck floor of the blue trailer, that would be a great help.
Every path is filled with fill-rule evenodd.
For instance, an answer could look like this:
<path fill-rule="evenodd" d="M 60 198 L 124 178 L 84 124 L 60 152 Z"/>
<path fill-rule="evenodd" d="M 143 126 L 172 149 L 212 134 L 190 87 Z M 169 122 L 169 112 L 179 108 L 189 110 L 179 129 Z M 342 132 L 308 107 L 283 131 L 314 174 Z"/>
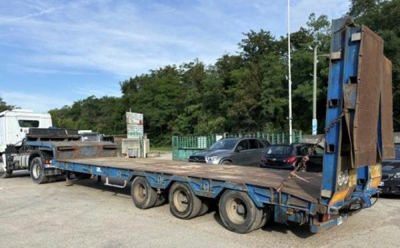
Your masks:
<path fill-rule="evenodd" d="M 102 157 L 57 159 L 57 161 L 166 173 L 178 176 L 209 178 L 232 183 L 245 183 L 268 188 L 271 187 L 274 189 L 276 189 L 280 182 L 289 174 L 288 170 L 264 169 L 237 165 L 209 165 L 151 158 Z M 282 191 L 316 203 L 319 198 L 321 174 L 314 172 L 299 172 L 298 175 L 309 182 L 293 178 L 289 180 Z"/>

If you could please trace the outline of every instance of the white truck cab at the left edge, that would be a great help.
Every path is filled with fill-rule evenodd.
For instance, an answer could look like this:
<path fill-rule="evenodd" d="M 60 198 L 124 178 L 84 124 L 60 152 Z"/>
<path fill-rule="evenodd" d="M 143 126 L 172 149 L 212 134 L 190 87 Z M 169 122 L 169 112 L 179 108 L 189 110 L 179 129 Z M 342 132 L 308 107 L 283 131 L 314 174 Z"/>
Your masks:
<path fill-rule="evenodd" d="M 29 127 L 48 128 L 51 125 L 49 113 L 35 113 L 27 109 L 0 112 L 0 153 L 4 152 L 7 144 L 20 143 Z"/>

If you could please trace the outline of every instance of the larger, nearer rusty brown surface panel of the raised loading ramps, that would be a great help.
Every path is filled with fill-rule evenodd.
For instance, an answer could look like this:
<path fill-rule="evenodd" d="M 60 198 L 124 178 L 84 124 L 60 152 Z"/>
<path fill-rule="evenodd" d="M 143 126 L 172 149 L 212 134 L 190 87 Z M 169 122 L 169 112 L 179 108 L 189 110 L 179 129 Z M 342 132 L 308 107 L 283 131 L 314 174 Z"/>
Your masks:
<path fill-rule="evenodd" d="M 357 100 L 354 117 L 354 166 L 376 162 L 377 123 L 382 82 L 383 40 L 361 27 Z"/>

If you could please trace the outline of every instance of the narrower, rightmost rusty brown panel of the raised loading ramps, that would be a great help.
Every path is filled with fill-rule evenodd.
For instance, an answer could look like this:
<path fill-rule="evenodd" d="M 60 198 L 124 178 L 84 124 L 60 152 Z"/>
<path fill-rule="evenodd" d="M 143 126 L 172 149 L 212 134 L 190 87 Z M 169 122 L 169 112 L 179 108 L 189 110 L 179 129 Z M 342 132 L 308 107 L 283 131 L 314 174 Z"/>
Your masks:
<path fill-rule="evenodd" d="M 391 61 L 383 59 L 383 83 L 380 93 L 382 159 L 394 157 L 393 99 L 391 92 Z"/>

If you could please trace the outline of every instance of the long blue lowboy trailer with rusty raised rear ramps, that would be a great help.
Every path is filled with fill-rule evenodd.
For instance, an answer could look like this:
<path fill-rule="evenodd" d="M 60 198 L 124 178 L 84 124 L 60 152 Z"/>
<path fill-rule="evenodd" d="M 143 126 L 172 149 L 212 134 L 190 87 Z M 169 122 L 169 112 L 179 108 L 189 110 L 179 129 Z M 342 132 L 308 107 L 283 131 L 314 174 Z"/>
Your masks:
<path fill-rule="evenodd" d="M 182 219 L 218 204 L 223 225 L 235 232 L 257 229 L 268 219 L 308 224 L 310 231 L 339 225 L 372 205 L 380 160 L 393 156 L 391 63 L 382 39 L 349 18 L 332 22 L 323 172 L 289 172 L 230 165 L 116 157 L 108 142 L 27 141 L 31 178 L 45 183 L 65 174 L 105 178 L 131 186 L 136 207 L 169 201 Z M 123 180 L 110 184 L 109 178 Z M 68 180 L 68 179 L 67 179 Z"/>

